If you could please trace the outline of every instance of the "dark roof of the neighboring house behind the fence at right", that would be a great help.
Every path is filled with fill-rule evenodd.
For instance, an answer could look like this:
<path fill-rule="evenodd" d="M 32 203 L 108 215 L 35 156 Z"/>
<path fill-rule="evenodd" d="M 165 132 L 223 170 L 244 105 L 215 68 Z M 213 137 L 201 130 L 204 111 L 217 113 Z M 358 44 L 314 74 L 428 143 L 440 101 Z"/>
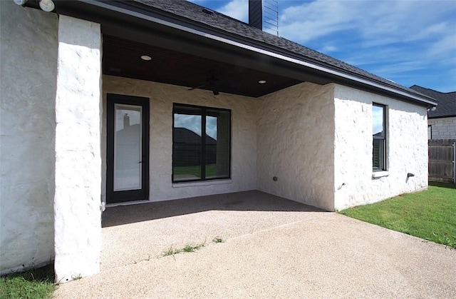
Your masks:
<path fill-rule="evenodd" d="M 437 109 L 435 111 L 428 111 L 428 118 L 442 118 L 456 116 L 456 91 L 451 92 L 440 92 L 430 88 L 414 85 L 411 89 L 423 93 L 426 96 L 435 98 L 438 102 Z"/>

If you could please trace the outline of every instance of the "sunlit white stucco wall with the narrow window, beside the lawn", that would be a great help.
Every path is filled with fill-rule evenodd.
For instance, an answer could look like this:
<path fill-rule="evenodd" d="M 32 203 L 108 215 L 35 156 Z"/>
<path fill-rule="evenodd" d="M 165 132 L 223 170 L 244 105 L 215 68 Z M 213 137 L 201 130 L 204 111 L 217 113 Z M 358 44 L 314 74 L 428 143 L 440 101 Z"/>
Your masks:
<path fill-rule="evenodd" d="M 427 188 L 426 108 L 340 85 L 334 95 L 336 210 Z M 388 106 L 382 178 L 372 178 L 372 103 Z"/>

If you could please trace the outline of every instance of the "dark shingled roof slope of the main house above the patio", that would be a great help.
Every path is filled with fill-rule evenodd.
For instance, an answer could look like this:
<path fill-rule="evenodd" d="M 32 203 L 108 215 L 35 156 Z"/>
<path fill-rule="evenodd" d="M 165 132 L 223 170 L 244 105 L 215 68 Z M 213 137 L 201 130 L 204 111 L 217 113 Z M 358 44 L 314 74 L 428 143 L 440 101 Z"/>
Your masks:
<path fill-rule="evenodd" d="M 260 29 L 254 28 L 249 26 L 242 21 L 237 19 L 233 19 L 229 16 L 225 16 L 224 14 L 220 14 L 217 11 L 214 11 L 213 14 L 207 14 L 203 12 L 204 7 L 199 6 L 197 4 L 193 4 L 188 1 L 183 0 L 135 0 L 141 4 L 145 4 L 150 6 L 154 9 L 159 9 L 161 11 L 165 11 L 170 14 L 175 14 L 177 16 L 190 19 L 192 21 L 199 22 L 201 24 L 205 24 L 207 26 L 211 26 L 214 29 L 220 29 L 222 31 L 226 31 L 229 34 L 235 34 L 237 36 L 241 36 L 247 39 L 251 39 L 253 41 L 259 41 L 269 46 L 274 46 L 276 48 L 286 50 L 291 52 L 291 54 L 298 54 L 295 58 L 301 59 L 306 62 L 310 62 L 313 64 L 317 64 L 320 66 L 325 66 L 329 69 L 333 69 L 336 71 L 341 71 L 346 74 L 354 75 L 358 78 L 365 78 L 369 81 L 375 81 L 377 83 L 381 83 L 384 86 L 390 86 L 393 88 L 397 88 L 401 91 L 405 91 L 408 93 L 412 93 L 414 95 L 423 96 L 421 93 L 417 93 L 413 89 L 407 88 L 405 86 L 401 86 L 393 81 L 387 80 L 385 78 L 381 78 L 380 76 L 376 76 L 374 74 L 369 73 L 368 71 L 364 71 L 363 69 L 359 69 L 356 66 L 352 66 L 350 64 L 346 64 L 343 61 L 338 59 L 333 59 L 330 56 L 322 54 L 318 51 L 314 51 L 309 49 L 305 46 L 301 46 L 300 44 L 296 44 L 293 41 L 289 41 L 288 39 L 284 39 L 279 36 L 274 36 L 273 34 L 269 34 L 265 31 L 261 31 Z M 247 0 L 246 0 L 247 1 Z"/>

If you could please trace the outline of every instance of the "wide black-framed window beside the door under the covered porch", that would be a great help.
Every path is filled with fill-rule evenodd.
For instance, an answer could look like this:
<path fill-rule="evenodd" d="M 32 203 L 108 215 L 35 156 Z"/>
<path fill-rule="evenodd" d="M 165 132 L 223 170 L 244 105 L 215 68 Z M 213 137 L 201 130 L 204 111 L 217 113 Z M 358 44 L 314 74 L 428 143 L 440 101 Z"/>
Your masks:
<path fill-rule="evenodd" d="M 230 178 L 231 111 L 174 104 L 172 181 Z"/>

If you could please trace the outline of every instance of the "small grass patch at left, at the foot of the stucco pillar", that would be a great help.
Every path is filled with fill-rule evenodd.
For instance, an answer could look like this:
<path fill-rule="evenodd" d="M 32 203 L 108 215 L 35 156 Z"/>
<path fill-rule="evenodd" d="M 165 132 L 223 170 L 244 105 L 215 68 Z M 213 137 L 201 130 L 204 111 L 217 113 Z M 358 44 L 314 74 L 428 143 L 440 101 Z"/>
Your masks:
<path fill-rule="evenodd" d="M 56 288 L 53 280 L 53 265 L 2 276 L 0 277 L 0 298 L 51 298 Z"/>

